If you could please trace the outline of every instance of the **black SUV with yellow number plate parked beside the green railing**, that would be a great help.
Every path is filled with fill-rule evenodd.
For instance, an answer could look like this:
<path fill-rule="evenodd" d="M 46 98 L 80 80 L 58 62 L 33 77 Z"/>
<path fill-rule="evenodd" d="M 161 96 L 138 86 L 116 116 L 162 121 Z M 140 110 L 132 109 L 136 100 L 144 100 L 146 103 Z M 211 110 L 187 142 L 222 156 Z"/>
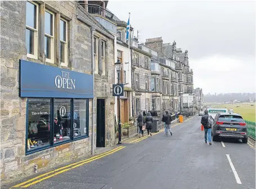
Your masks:
<path fill-rule="evenodd" d="M 219 137 L 238 138 L 242 143 L 247 143 L 247 128 L 240 114 L 219 113 L 215 116 L 212 127 L 213 141 Z"/>

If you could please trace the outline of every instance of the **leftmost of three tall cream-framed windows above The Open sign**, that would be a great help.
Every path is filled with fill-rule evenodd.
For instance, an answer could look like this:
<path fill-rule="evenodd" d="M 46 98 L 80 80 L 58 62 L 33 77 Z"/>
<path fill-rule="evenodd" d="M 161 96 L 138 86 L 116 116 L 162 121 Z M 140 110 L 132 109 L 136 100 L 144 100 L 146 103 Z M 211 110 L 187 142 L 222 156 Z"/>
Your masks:
<path fill-rule="evenodd" d="M 38 57 L 38 4 L 26 2 L 26 51 L 32 59 Z"/>

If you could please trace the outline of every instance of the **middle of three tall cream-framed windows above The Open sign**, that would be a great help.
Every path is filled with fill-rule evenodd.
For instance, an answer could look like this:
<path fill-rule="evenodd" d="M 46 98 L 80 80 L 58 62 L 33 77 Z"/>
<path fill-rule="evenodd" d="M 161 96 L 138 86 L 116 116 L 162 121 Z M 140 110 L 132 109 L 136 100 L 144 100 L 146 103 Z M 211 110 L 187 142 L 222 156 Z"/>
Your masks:
<path fill-rule="evenodd" d="M 44 53 L 46 61 L 54 63 L 54 14 L 46 10 L 44 15 Z"/>

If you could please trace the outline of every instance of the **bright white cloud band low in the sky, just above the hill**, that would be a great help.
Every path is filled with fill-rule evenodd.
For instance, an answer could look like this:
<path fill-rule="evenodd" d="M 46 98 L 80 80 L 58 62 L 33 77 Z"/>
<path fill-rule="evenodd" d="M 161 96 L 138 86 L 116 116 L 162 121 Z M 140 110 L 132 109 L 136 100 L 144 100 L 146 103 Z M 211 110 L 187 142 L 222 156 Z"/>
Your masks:
<path fill-rule="evenodd" d="M 223 56 L 190 60 L 194 88 L 203 88 L 204 94 L 255 92 L 255 61 L 244 62 Z"/>

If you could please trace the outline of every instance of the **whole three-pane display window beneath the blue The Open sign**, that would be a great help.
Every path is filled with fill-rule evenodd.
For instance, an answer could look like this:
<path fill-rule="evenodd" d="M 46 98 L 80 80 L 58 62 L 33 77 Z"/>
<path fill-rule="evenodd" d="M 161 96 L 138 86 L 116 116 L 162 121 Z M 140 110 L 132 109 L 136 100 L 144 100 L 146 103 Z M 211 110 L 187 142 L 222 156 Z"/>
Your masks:
<path fill-rule="evenodd" d="M 88 99 L 28 99 L 26 153 L 87 137 L 88 108 Z"/>

